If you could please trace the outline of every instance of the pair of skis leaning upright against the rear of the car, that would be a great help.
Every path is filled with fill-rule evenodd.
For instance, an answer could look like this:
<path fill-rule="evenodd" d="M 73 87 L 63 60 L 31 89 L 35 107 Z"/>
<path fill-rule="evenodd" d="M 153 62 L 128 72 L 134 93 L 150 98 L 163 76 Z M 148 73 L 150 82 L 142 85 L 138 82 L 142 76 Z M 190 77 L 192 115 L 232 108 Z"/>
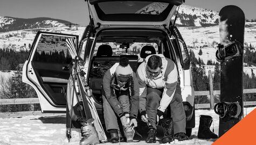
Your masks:
<path fill-rule="evenodd" d="M 70 54 L 72 56 L 72 59 L 77 60 L 77 62 L 75 62 L 75 67 L 73 68 L 73 69 L 75 69 L 74 72 L 76 72 L 74 74 L 74 76 L 76 78 L 75 86 L 76 86 L 77 95 L 80 97 L 83 107 L 85 109 L 86 120 L 91 119 L 91 118 L 94 119 L 94 126 L 96 128 L 96 132 L 98 133 L 99 140 L 102 143 L 105 143 L 105 142 L 107 142 L 107 136 L 105 134 L 105 131 L 101 124 L 98 112 L 94 105 L 92 91 L 91 91 L 91 89 L 88 88 L 87 82 L 83 79 L 84 77 L 82 77 L 82 75 L 85 75 L 85 73 L 84 73 L 84 71 L 82 71 L 81 64 L 78 63 L 79 56 L 77 55 L 77 52 L 75 50 L 75 42 L 70 38 L 68 38 L 66 40 L 66 42 L 67 42 L 67 46 L 71 52 Z M 89 114 L 87 114 L 88 111 L 90 112 Z"/>

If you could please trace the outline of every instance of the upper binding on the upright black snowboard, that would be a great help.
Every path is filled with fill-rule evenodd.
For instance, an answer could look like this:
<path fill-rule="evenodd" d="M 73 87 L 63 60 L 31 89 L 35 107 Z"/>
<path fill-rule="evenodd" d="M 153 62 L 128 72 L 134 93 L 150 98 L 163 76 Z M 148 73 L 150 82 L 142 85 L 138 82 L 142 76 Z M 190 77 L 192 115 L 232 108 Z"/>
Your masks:
<path fill-rule="evenodd" d="M 230 60 L 231 58 L 239 56 L 243 53 L 243 46 L 237 40 L 234 40 L 233 42 L 231 42 L 231 44 L 227 46 L 218 44 L 217 48 L 218 50 L 216 52 L 216 57 L 220 61 Z"/>

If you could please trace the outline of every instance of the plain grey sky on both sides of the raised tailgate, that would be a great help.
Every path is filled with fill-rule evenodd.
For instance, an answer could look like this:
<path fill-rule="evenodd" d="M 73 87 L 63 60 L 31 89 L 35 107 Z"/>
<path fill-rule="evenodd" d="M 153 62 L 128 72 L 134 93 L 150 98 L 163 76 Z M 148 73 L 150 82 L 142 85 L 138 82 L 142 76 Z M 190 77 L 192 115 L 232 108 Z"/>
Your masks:
<path fill-rule="evenodd" d="M 184 4 L 216 11 L 225 5 L 237 5 L 247 19 L 256 18 L 256 0 L 185 0 Z M 89 21 L 84 0 L 0 0 L 0 16 L 50 17 L 80 25 L 87 25 Z"/>

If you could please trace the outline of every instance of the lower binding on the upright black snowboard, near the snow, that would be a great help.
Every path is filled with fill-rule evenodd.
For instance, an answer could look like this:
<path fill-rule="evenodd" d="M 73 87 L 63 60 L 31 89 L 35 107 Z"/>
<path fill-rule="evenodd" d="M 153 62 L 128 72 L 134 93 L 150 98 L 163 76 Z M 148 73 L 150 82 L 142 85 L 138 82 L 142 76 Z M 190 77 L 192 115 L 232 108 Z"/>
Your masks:
<path fill-rule="evenodd" d="M 241 113 L 241 106 L 239 102 L 229 103 L 221 102 L 214 106 L 214 111 L 220 118 L 238 118 Z"/>

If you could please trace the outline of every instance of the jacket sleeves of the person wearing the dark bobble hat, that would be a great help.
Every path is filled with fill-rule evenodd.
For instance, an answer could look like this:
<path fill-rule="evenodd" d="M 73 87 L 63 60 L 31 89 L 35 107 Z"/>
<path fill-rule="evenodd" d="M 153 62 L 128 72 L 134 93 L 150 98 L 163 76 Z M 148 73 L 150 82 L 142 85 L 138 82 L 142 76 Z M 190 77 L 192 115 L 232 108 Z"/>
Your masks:
<path fill-rule="evenodd" d="M 115 89 L 111 86 L 112 83 L 116 83 L 114 79 L 115 77 L 115 69 L 119 65 L 119 63 L 115 63 L 109 70 L 106 71 L 103 76 L 103 91 L 105 92 L 105 96 L 112 106 L 115 113 L 122 117 L 125 113 L 120 107 L 120 103 L 117 100 L 117 96 L 115 94 Z M 117 84 L 117 83 L 116 83 Z M 133 87 L 129 87 L 129 97 L 130 97 L 130 117 L 137 118 L 138 110 L 139 110 L 139 83 L 136 78 L 136 74 L 133 72 Z"/>

